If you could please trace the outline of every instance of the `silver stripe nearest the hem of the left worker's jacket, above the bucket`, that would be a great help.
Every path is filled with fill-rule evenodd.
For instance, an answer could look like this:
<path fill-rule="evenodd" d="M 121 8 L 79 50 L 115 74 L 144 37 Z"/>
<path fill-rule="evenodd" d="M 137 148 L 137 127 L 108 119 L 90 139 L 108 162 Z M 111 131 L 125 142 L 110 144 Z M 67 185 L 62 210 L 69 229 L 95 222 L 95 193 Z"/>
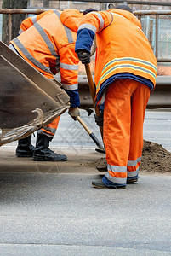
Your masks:
<path fill-rule="evenodd" d="M 20 40 L 18 38 L 14 38 L 13 42 L 19 47 L 19 49 L 22 51 L 22 53 L 26 56 L 26 58 L 31 61 L 35 66 L 39 67 L 43 71 L 47 73 L 51 73 L 49 67 L 44 66 L 42 63 L 37 61 L 25 48 L 23 44 L 20 43 Z"/>

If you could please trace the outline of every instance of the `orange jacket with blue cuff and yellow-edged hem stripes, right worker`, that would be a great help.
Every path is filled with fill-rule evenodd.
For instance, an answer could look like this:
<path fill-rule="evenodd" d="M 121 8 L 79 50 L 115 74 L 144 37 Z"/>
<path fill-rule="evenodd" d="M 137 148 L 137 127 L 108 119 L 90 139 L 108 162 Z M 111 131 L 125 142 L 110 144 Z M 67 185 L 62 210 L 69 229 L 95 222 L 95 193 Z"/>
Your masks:
<path fill-rule="evenodd" d="M 96 33 L 95 84 L 118 73 L 132 73 L 156 84 L 157 61 L 140 21 L 120 9 L 92 12 L 83 17 L 77 31 L 76 52 L 90 51 Z"/>

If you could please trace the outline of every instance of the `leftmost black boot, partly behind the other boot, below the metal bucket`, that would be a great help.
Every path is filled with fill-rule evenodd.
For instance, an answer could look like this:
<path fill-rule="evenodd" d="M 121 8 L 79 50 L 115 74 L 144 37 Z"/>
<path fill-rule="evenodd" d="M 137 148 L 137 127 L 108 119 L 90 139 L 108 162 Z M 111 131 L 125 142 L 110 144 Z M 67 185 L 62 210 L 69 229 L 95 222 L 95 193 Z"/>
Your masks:
<path fill-rule="evenodd" d="M 18 157 L 31 157 L 33 156 L 35 147 L 31 145 L 31 135 L 18 141 L 16 148 L 16 156 Z"/>

